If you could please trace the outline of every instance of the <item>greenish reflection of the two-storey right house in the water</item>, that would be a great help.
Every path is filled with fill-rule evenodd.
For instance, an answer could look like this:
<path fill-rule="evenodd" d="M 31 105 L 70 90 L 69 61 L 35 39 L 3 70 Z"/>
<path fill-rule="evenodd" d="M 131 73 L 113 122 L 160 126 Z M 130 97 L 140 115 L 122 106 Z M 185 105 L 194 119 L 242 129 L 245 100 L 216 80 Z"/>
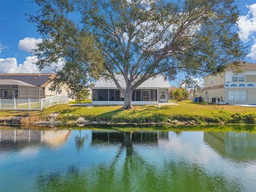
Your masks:
<path fill-rule="evenodd" d="M 223 157 L 239 161 L 256 158 L 256 134 L 204 132 L 204 141 Z"/>

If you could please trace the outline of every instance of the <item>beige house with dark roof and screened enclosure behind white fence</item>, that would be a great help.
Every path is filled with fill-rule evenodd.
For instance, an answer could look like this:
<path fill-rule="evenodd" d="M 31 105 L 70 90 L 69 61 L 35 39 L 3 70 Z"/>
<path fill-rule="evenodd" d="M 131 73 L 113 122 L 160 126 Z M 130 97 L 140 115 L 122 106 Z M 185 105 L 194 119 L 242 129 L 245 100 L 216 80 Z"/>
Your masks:
<path fill-rule="evenodd" d="M 49 90 L 55 74 L 0 74 L 1 99 L 43 99 L 56 92 Z M 65 87 L 58 93 L 67 95 Z"/>

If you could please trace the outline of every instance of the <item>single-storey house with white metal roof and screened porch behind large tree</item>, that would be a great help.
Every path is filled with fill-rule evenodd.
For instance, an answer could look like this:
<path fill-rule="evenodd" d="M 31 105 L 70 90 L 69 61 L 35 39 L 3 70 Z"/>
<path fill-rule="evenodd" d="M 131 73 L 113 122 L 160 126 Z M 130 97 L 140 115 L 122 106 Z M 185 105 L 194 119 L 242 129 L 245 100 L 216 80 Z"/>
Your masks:
<path fill-rule="evenodd" d="M 123 75 L 116 75 L 119 85 L 125 89 L 125 80 Z M 133 105 L 157 105 L 158 103 L 167 103 L 168 94 L 171 85 L 164 76 L 149 78 L 143 82 L 132 94 Z M 112 80 L 100 78 L 92 87 L 93 105 L 123 105 L 124 95 L 117 89 Z"/>

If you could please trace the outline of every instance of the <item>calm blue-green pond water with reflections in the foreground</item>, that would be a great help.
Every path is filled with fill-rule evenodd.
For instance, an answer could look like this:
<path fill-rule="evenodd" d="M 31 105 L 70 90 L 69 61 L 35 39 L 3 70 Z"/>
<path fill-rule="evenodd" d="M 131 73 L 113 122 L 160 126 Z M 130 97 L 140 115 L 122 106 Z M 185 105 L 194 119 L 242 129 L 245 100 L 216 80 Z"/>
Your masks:
<path fill-rule="evenodd" d="M 255 132 L 0 131 L 1 191 L 256 191 Z"/>

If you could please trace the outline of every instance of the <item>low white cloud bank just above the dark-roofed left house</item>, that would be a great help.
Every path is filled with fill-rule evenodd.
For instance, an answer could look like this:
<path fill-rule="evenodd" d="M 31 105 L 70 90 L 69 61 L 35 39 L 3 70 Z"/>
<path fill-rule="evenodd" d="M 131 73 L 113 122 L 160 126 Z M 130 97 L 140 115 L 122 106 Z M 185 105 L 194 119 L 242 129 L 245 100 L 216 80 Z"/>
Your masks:
<path fill-rule="evenodd" d="M 28 56 L 23 63 L 18 65 L 15 58 L 0 58 L 0 73 L 52 73 L 52 68 L 61 68 L 63 66 L 63 62 L 60 61 L 57 65 L 54 64 L 52 67 L 46 67 L 40 71 L 35 65 L 36 61 L 36 56 Z"/>

